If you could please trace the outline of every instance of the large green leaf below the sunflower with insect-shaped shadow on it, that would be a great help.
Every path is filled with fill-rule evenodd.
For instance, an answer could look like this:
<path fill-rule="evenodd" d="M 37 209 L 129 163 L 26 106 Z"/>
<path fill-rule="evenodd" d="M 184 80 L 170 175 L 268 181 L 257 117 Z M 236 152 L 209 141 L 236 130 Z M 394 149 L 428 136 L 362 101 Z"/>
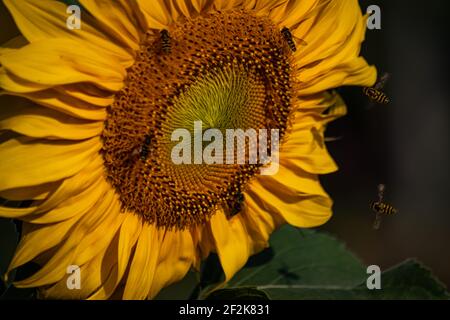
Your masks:
<path fill-rule="evenodd" d="M 275 254 L 268 263 L 244 268 L 228 286 L 256 286 L 272 298 L 283 298 L 279 286 L 340 288 L 355 286 L 366 278 L 361 262 L 325 234 L 284 226 L 272 236 L 271 248 Z"/>

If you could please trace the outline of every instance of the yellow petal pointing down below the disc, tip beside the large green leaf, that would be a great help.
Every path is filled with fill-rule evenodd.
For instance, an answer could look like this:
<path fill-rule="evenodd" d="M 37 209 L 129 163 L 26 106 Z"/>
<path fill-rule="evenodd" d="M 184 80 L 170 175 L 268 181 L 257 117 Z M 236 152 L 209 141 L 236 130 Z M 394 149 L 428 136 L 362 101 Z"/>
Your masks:
<path fill-rule="evenodd" d="M 251 254 L 247 230 L 240 215 L 228 220 L 223 210 L 212 216 L 210 225 L 225 281 L 228 281 L 245 265 Z"/>

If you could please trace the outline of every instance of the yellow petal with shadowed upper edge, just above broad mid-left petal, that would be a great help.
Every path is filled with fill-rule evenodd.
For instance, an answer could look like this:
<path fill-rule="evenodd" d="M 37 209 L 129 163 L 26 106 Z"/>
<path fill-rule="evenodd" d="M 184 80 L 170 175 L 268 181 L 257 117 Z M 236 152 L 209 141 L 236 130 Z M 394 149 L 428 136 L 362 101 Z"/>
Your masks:
<path fill-rule="evenodd" d="M 3 100 L 3 98 L 0 98 Z M 85 121 L 40 108 L 24 99 L 0 109 L 0 130 L 11 130 L 28 137 L 84 140 L 99 136 L 103 122 Z"/>

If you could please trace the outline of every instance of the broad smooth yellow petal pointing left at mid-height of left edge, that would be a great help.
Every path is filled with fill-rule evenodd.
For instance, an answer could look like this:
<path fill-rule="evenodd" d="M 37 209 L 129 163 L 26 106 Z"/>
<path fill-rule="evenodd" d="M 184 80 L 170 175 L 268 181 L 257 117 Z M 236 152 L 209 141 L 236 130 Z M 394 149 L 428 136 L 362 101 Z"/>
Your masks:
<path fill-rule="evenodd" d="M 39 185 L 79 172 L 101 143 L 98 138 L 83 142 L 15 138 L 0 144 L 0 190 Z"/>

